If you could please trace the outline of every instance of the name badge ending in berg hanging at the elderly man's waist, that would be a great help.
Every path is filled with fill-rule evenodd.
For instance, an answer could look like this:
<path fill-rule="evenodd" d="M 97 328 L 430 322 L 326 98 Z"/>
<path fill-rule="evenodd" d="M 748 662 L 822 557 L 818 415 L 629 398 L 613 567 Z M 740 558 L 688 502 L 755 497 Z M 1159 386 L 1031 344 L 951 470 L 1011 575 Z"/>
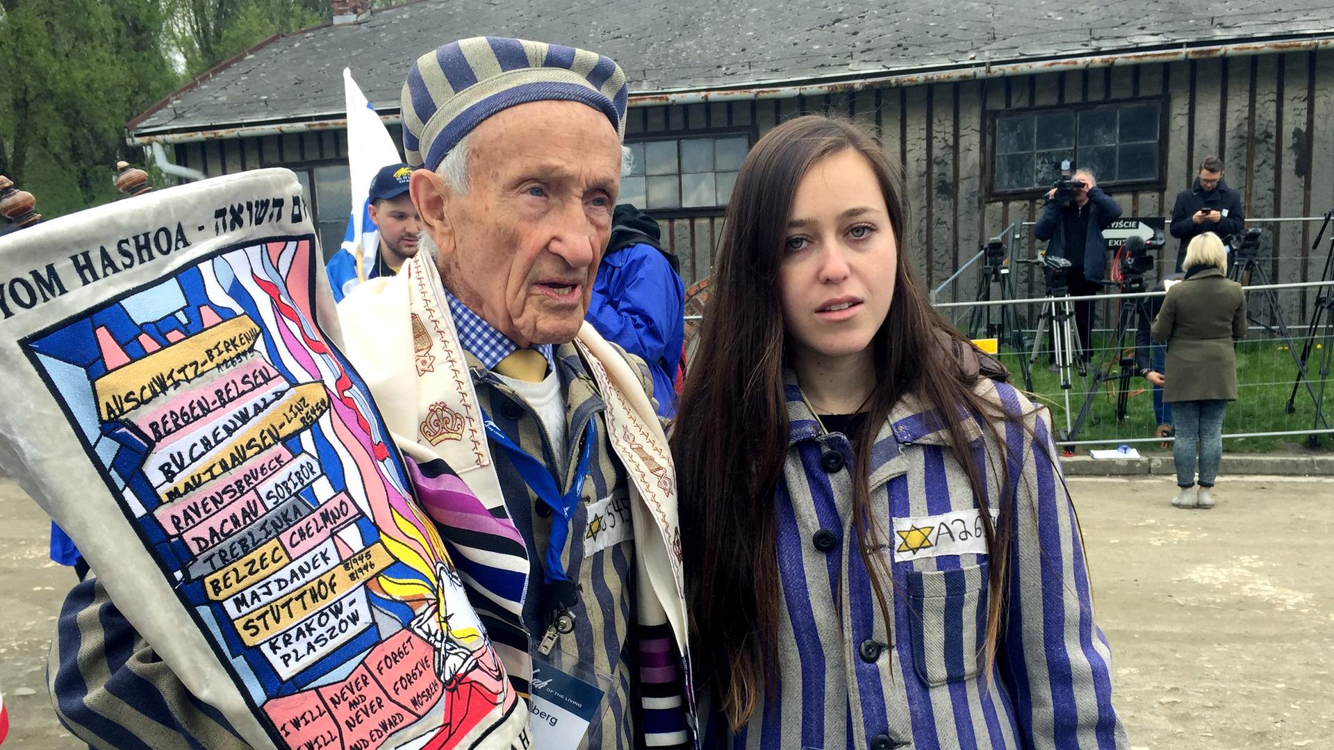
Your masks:
<path fill-rule="evenodd" d="M 550 661 L 536 654 L 532 658 L 528 693 L 532 746 L 542 750 L 575 750 L 588 734 L 588 726 L 600 719 L 603 698 L 611 682 L 586 665 L 564 657 L 560 650 L 552 651 L 551 657 Z"/>

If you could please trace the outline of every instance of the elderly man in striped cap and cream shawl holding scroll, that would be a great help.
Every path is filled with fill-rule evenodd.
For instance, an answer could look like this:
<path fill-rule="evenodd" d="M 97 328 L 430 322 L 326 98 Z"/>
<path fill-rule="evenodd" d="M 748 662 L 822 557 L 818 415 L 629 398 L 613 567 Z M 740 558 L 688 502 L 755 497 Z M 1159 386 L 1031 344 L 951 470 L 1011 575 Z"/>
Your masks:
<path fill-rule="evenodd" d="M 516 747 L 694 743 L 675 475 L 652 380 L 583 324 L 626 100 L 620 68 L 582 49 L 479 37 L 422 56 L 403 88 L 408 161 L 424 167 L 410 185 L 420 251 L 339 304 L 343 348 L 528 698 Z M 105 591 L 71 594 L 52 650 L 57 713 L 80 739 L 244 746 Z M 440 742 L 430 747 L 456 746 Z M 468 746 L 498 743 L 483 733 Z"/>

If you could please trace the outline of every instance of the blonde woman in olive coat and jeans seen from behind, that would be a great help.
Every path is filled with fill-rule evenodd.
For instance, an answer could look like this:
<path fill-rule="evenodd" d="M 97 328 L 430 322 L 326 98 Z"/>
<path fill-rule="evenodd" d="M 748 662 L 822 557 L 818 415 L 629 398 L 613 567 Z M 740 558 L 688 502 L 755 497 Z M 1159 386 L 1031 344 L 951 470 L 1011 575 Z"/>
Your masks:
<path fill-rule="evenodd" d="M 1223 414 L 1237 400 L 1234 340 L 1246 335 L 1246 295 L 1226 278 L 1227 251 L 1213 232 L 1190 240 L 1186 278 L 1173 284 L 1154 319 L 1153 338 L 1167 344 L 1163 400 L 1171 403 L 1177 486 L 1171 504 L 1211 508 L 1210 490 L 1223 454 Z M 1161 378 L 1161 376 L 1159 376 Z M 1199 494 L 1195 452 L 1199 451 Z"/>

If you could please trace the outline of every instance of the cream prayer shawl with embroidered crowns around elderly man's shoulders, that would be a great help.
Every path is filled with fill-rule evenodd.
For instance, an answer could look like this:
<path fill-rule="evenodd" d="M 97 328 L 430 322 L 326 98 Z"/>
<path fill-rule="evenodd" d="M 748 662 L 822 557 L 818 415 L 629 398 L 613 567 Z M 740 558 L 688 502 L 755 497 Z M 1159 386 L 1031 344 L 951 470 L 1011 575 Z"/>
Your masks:
<path fill-rule="evenodd" d="M 419 242 L 419 252 L 398 276 L 368 280 L 339 304 L 344 344 L 379 399 L 384 423 L 404 455 L 419 462 L 443 459 L 486 512 L 504 526 L 496 532 L 518 538 L 491 458 L 476 388 L 435 268 L 435 244 L 426 235 Z M 624 356 L 588 323 L 580 328 L 575 344 L 607 403 L 610 442 L 631 479 L 639 625 L 670 625 L 678 653 L 684 655 L 680 528 L 667 438 Z M 435 511 L 428 507 L 427 512 Z M 438 520 L 447 523 L 446 518 Z M 506 552 L 460 547 L 458 554 L 484 569 L 528 571 L 527 560 Z M 522 621 L 520 598 L 492 590 L 480 594 L 502 606 L 515 622 Z M 527 653 L 512 649 L 499 653 L 511 674 L 530 679 L 532 662 Z"/>

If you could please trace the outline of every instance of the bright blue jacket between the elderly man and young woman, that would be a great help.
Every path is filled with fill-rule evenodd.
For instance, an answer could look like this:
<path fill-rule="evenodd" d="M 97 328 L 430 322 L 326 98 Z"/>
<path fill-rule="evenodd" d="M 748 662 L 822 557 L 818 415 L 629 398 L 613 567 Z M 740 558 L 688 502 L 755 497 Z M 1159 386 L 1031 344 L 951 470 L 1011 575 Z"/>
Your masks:
<path fill-rule="evenodd" d="M 648 363 L 658 414 L 672 416 L 676 414 L 676 368 L 686 340 L 686 284 L 667 256 L 650 244 L 655 236 L 626 230 L 622 224 L 624 206 L 616 207 L 618 226 L 608 246 L 614 250 L 607 251 L 598 267 L 586 319 L 604 339 Z M 647 215 L 640 216 L 652 222 Z M 656 234 L 656 228 L 654 223 L 650 234 Z M 616 248 L 622 232 L 646 242 Z"/>

